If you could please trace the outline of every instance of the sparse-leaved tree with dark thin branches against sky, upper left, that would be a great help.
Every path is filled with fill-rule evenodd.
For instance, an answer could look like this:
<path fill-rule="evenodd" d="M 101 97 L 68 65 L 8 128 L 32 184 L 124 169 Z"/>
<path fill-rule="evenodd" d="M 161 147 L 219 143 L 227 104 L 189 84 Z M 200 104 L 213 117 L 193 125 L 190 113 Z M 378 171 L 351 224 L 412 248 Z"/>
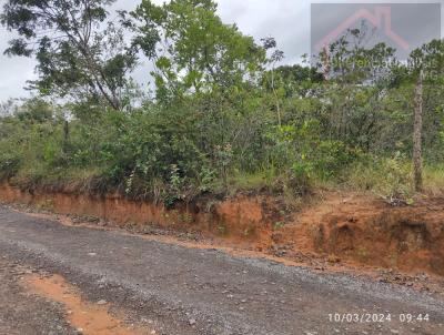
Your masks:
<path fill-rule="evenodd" d="M 2 24 L 18 32 L 6 53 L 34 55 L 39 79 L 31 87 L 43 94 L 93 99 L 123 108 L 127 74 L 135 52 L 120 28 L 107 22 L 112 0 L 8 0 Z"/>

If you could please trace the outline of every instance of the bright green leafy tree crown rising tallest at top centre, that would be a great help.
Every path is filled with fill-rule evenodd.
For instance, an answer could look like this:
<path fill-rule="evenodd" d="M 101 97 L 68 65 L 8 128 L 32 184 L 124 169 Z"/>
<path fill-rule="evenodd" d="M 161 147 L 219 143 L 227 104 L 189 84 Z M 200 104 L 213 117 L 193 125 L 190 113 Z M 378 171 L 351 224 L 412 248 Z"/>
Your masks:
<path fill-rule="evenodd" d="M 265 62 L 265 52 L 234 24 L 224 24 L 213 0 L 143 0 L 132 13 L 134 43 L 154 61 L 158 98 L 229 91 Z M 155 52 L 153 50 L 155 49 Z"/>

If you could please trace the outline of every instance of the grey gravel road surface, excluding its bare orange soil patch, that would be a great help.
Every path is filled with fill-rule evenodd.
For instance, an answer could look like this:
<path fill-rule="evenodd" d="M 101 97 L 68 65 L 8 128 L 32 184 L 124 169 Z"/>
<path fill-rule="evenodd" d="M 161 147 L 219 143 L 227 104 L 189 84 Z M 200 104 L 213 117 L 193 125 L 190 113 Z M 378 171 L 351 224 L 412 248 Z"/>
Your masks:
<path fill-rule="evenodd" d="M 3 206 L 0 334 L 82 333 L 62 304 L 19 283 L 27 271 L 17 266 L 62 276 L 84 301 L 105 302 L 147 334 L 444 334 L 444 300 L 426 292 L 65 226 Z"/>

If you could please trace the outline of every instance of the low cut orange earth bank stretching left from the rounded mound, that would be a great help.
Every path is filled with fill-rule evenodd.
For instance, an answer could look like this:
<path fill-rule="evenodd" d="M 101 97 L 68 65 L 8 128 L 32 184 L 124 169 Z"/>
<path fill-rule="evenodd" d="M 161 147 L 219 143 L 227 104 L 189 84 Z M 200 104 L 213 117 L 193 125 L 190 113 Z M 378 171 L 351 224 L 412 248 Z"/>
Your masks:
<path fill-rule="evenodd" d="M 239 196 L 232 200 L 205 200 L 178 204 L 175 209 L 151 202 L 137 202 L 120 195 L 93 196 L 78 193 L 21 191 L 0 184 L 0 200 L 27 203 L 60 214 L 100 217 L 118 225 L 142 224 L 183 232 L 201 232 L 245 242 L 258 241 L 276 221 L 278 207 L 268 196 Z"/>

